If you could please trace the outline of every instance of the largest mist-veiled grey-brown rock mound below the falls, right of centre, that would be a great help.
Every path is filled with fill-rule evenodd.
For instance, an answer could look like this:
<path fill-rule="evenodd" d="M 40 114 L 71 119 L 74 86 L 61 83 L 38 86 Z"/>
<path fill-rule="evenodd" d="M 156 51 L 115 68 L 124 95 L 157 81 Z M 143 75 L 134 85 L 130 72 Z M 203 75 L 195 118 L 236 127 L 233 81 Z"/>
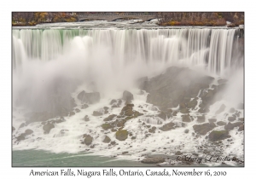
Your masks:
<path fill-rule="evenodd" d="M 201 75 L 198 72 L 185 67 L 172 66 L 166 72 L 160 74 L 145 83 L 145 88 L 149 95 L 147 102 L 168 109 L 177 107 L 178 104 L 186 104 L 191 97 L 195 98 L 199 90 L 208 88 L 213 78 Z M 195 107 L 197 101 L 191 101 L 189 108 Z M 188 107 L 188 104 L 187 104 Z"/>

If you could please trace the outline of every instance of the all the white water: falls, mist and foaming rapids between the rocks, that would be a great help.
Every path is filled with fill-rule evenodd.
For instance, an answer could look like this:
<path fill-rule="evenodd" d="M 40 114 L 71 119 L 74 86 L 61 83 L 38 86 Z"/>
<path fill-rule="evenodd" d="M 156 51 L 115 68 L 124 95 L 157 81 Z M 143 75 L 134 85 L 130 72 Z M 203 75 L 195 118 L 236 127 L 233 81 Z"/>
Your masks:
<path fill-rule="evenodd" d="M 13 29 L 13 104 L 17 107 L 14 112 L 15 128 L 18 129 L 20 124 L 26 121 L 20 114 L 19 106 L 32 112 L 49 111 L 52 108 L 51 101 L 57 101 L 63 96 L 63 99 L 68 101 L 68 97 L 72 94 L 78 108 L 81 109 L 74 116 L 65 117 L 66 122 L 55 124 L 55 128 L 48 135 L 44 135 L 41 122 L 15 130 L 15 135 L 19 136 L 26 129 L 31 129 L 34 131 L 34 136 L 29 136 L 19 145 L 15 143 L 14 148 L 77 153 L 88 149 L 88 146 L 81 146 L 79 140 L 82 135 L 90 133 L 96 144 L 91 151 L 108 156 L 121 150 L 125 152 L 130 148 L 133 157 L 139 155 L 138 151 L 142 152 L 144 148 L 151 150 L 159 145 L 166 147 L 170 141 L 173 141 L 172 147 L 189 144 L 186 145 L 185 150 L 194 152 L 193 146 L 198 145 L 205 138 L 200 138 L 195 143 L 194 136 L 186 136 L 183 128 L 170 131 L 172 135 L 158 132 L 152 133 L 151 138 L 143 138 L 148 128 L 140 124 L 160 127 L 171 119 L 155 117 L 159 113 L 158 107 L 146 102 L 147 93 L 141 94 L 140 90 L 133 87 L 137 78 L 154 77 L 172 65 L 195 67 L 215 77 L 225 78 L 226 71 L 232 71 L 234 66 L 242 64 L 243 61 L 239 55 L 241 52 L 236 49 L 239 45 L 237 31 L 237 29 L 207 27 Z M 242 69 L 242 66 L 240 68 Z M 229 78 L 230 84 L 234 84 L 228 88 L 227 94 L 231 95 L 210 107 L 209 118 L 215 118 L 212 113 L 215 113 L 222 103 L 227 106 L 223 113 L 229 113 L 233 104 L 243 101 L 241 74 L 242 72 L 239 71 L 233 78 Z M 217 80 L 218 78 L 215 81 Z M 82 90 L 100 92 L 101 101 L 82 109 L 82 103 L 76 99 Z M 99 109 L 103 110 L 102 107 L 111 108 L 109 102 L 112 99 L 119 99 L 124 90 L 130 90 L 134 95 L 135 110 L 147 113 L 148 116 L 131 119 L 125 123 L 125 128 L 136 134 L 137 139 L 118 141 L 121 147 L 121 150 L 118 150 L 117 147 L 109 148 L 108 144 L 102 142 L 106 131 L 102 132 L 101 126 L 104 123 L 103 118 L 107 118 L 109 114 L 98 118 L 92 113 Z M 198 106 L 199 103 L 197 108 Z M 111 108 L 109 113 L 119 115 L 120 110 L 121 108 L 118 107 Z M 175 110 L 178 110 L 178 107 Z M 190 114 L 195 115 L 195 113 L 196 110 Z M 218 118 L 223 118 L 223 113 L 219 114 Z M 90 117 L 90 122 L 84 121 L 85 115 Z M 241 110 L 241 117 L 242 115 Z M 172 121 L 182 126 L 181 113 L 173 117 Z M 193 131 L 193 124 L 196 122 L 188 124 L 189 131 Z M 115 140 L 113 132 L 108 133 L 108 136 Z M 242 137 L 239 138 L 240 143 L 241 139 Z M 129 145 L 133 148 L 131 149 Z M 236 145 L 234 144 L 233 147 Z M 241 147 L 238 152 L 241 153 Z"/>

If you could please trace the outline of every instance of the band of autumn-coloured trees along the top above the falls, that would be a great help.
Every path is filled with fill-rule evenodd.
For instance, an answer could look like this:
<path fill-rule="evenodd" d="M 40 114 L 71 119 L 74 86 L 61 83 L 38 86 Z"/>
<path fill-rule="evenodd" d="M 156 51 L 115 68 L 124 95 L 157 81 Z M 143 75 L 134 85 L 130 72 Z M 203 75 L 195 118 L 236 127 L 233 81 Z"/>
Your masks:
<path fill-rule="evenodd" d="M 13 12 L 13 26 L 34 26 L 39 23 L 73 22 L 79 14 L 134 14 L 132 12 Z M 136 13 L 136 12 L 135 12 Z M 160 26 L 239 26 L 244 24 L 243 12 L 145 12 L 154 14 Z"/>

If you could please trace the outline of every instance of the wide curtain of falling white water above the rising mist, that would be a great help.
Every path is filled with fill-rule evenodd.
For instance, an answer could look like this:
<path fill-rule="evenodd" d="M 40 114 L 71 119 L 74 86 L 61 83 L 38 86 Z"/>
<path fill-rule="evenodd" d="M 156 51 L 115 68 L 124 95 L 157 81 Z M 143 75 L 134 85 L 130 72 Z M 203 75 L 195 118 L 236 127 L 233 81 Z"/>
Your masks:
<path fill-rule="evenodd" d="M 104 49 L 121 66 L 134 61 L 181 63 L 204 66 L 207 71 L 221 75 L 235 59 L 237 31 L 214 28 L 13 30 L 13 67 L 26 59 L 50 61 L 67 55 L 74 49 L 71 44 L 75 41 L 79 53 L 84 49 L 87 51 L 84 53 L 91 55 Z"/>

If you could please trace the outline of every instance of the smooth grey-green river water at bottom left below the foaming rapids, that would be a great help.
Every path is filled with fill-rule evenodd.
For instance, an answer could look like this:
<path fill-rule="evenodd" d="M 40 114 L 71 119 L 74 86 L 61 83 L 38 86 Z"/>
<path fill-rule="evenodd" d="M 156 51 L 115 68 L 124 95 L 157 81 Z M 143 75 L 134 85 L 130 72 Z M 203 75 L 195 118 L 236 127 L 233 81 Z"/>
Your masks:
<path fill-rule="evenodd" d="M 12 153 L 12 166 L 156 166 L 136 161 L 89 155 L 88 153 L 49 153 L 42 150 L 18 150 Z"/>

